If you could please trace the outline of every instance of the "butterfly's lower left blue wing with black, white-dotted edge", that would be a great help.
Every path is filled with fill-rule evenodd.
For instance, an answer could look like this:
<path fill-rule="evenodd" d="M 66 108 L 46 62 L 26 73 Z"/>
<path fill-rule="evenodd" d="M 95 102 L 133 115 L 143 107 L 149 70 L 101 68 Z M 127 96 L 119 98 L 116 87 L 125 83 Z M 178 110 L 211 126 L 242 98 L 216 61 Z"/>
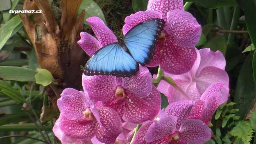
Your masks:
<path fill-rule="evenodd" d="M 138 71 L 138 63 L 118 43 L 98 50 L 86 63 L 86 75 L 131 76 Z"/>

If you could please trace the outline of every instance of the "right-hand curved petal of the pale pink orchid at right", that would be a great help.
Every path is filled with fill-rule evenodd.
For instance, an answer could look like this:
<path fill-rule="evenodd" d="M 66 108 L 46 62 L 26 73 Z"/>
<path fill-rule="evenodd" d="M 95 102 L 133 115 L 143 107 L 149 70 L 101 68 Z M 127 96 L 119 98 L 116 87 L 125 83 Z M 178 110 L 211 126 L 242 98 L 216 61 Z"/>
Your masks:
<path fill-rule="evenodd" d="M 224 103 L 229 97 L 229 75 L 220 68 L 208 66 L 201 70 L 196 79 L 197 88 L 200 92 L 204 92 L 208 86 L 213 83 L 223 83 L 221 90 L 222 96 L 220 103 Z"/>

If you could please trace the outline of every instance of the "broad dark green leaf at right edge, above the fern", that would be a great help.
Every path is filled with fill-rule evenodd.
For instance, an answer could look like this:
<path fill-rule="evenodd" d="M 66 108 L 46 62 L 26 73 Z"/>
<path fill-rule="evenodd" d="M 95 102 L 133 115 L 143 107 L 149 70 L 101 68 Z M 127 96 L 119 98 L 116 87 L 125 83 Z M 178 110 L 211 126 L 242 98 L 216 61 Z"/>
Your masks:
<path fill-rule="evenodd" d="M 235 108 L 239 109 L 237 116 L 244 119 L 252 108 L 256 96 L 256 84 L 252 74 L 252 58 L 251 54 L 245 58 L 245 62 L 238 75 L 236 89 L 234 94 Z"/>

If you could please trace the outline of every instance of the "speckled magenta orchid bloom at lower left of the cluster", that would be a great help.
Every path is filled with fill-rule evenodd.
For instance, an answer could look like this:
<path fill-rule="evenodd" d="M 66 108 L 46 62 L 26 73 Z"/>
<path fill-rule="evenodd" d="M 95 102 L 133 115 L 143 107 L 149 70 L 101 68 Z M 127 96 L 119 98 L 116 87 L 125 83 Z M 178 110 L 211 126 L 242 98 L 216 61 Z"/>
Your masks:
<path fill-rule="evenodd" d="M 118 113 L 109 107 L 97 108 L 86 91 L 66 88 L 57 104 L 61 114 L 53 132 L 62 144 L 91 144 L 94 136 L 100 142 L 113 144 L 122 132 Z"/>

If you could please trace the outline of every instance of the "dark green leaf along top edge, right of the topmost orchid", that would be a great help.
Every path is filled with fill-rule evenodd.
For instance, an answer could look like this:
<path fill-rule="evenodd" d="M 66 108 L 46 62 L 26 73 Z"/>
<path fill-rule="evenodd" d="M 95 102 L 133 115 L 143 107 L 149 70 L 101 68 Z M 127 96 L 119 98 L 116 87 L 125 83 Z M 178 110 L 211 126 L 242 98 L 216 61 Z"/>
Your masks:
<path fill-rule="evenodd" d="M 238 4 L 236 0 L 192 0 L 195 4 L 200 7 L 206 7 L 216 9 L 220 7 L 234 7 Z"/>

